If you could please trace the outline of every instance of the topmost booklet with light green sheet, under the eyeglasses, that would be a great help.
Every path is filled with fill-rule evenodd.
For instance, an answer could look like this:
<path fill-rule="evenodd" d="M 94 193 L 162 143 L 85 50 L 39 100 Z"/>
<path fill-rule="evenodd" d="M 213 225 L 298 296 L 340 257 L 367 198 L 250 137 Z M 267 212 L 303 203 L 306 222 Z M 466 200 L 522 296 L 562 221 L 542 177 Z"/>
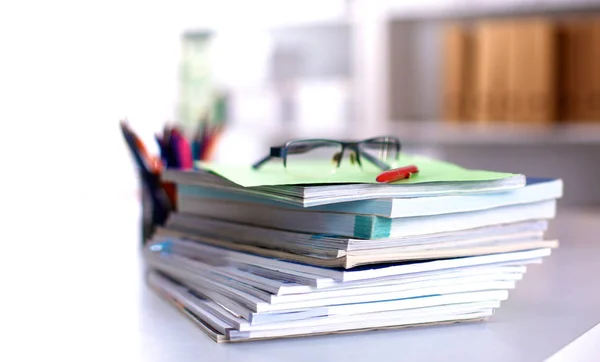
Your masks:
<path fill-rule="evenodd" d="M 378 184 L 377 173 L 345 167 L 334 174 L 296 176 L 278 163 L 260 171 L 250 166 L 201 163 L 202 171 L 167 170 L 165 181 L 260 196 L 303 207 L 375 198 L 462 195 L 514 190 L 525 185 L 519 174 L 470 170 L 420 156 L 403 155 L 419 173 L 393 184 Z"/>

